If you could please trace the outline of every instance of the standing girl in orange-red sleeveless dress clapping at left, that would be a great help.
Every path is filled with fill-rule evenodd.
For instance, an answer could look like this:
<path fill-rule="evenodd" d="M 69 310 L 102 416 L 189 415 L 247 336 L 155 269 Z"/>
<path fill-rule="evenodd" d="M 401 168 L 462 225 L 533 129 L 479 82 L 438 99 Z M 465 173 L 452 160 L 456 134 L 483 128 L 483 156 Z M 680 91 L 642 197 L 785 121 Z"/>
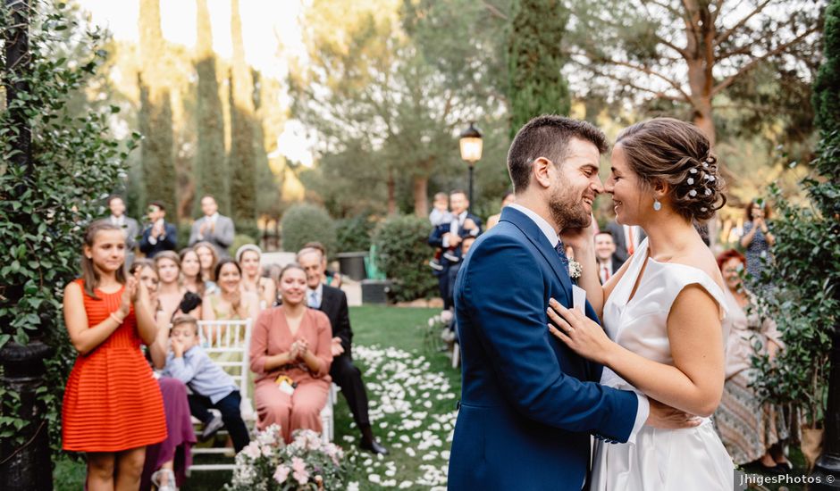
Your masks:
<path fill-rule="evenodd" d="M 64 391 L 63 448 L 88 454 L 88 490 L 138 489 L 146 445 L 166 437 L 160 388 L 140 353 L 156 334 L 149 293 L 126 278 L 119 227 L 91 225 L 82 252 L 82 278 L 64 288 L 79 356 Z"/>

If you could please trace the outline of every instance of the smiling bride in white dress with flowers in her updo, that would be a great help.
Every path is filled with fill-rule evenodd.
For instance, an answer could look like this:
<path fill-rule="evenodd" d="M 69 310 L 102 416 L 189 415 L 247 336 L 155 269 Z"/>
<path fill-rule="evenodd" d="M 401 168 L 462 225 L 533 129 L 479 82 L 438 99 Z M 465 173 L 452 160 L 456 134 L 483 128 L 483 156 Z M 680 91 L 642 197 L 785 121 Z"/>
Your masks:
<path fill-rule="evenodd" d="M 724 385 L 724 283 L 692 223 L 725 202 L 716 159 L 698 129 L 658 118 L 625 129 L 611 165 L 605 189 L 617 221 L 641 226 L 648 238 L 601 287 L 592 230 L 564 235 L 584 265 L 580 283 L 604 329 L 552 300 L 549 316 L 559 329 L 550 330 L 605 366 L 601 384 L 698 419 L 693 428 L 643 427 L 632 443 L 596 442 L 590 488 L 731 490 L 734 465 L 709 419 Z"/>

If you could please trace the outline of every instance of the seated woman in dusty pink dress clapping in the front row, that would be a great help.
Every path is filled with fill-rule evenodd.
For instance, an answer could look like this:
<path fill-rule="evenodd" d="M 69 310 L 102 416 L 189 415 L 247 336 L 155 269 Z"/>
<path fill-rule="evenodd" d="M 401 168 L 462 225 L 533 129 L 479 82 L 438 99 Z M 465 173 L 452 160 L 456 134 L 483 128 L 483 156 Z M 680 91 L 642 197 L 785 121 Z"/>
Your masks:
<path fill-rule="evenodd" d="M 283 268 L 279 288 L 283 304 L 256 318 L 250 362 L 256 373 L 256 427 L 278 423 L 290 442 L 295 429 L 323 430 L 321 410 L 332 382 L 332 329 L 326 314 L 307 307 L 307 273 L 298 264 Z M 281 378 L 291 382 L 282 385 Z"/>

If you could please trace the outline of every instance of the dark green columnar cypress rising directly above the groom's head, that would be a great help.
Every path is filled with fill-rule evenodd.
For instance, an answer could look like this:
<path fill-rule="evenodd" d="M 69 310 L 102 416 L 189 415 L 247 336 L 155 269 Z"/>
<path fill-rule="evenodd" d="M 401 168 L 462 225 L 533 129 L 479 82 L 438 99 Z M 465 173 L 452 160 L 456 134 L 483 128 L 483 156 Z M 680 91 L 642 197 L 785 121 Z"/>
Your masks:
<path fill-rule="evenodd" d="M 514 2 L 508 35 L 510 134 L 540 114 L 568 114 L 567 59 L 561 49 L 569 12 L 559 0 Z"/>

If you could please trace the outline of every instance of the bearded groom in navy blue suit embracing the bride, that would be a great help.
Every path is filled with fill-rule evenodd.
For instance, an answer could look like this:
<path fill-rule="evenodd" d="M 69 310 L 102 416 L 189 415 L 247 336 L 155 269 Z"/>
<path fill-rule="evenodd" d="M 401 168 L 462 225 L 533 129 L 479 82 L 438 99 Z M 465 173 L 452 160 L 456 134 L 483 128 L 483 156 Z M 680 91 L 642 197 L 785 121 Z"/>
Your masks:
<path fill-rule="evenodd" d="M 605 151 L 601 130 L 559 116 L 529 121 L 510 146 L 517 202 L 475 241 L 455 286 L 463 385 L 451 490 L 580 491 L 590 435 L 624 443 L 648 419 L 645 396 L 601 386 L 601 365 L 547 329 L 551 297 L 573 306 L 558 234 L 592 220 Z"/>

